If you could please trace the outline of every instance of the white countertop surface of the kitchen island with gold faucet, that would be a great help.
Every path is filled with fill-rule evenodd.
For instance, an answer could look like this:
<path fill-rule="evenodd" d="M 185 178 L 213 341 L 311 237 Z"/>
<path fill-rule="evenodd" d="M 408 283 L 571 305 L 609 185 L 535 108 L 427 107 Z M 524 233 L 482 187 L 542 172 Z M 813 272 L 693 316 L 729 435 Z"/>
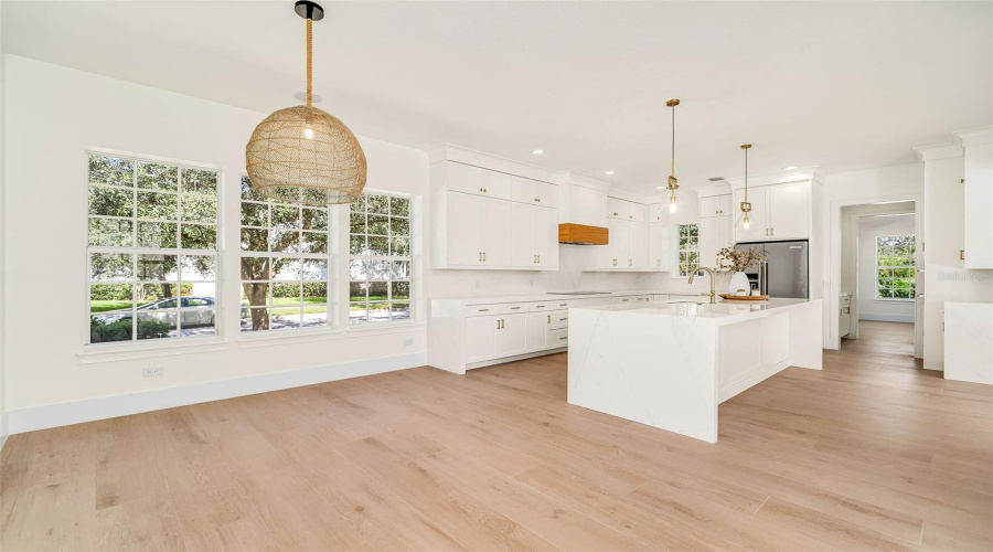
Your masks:
<path fill-rule="evenodd" d="M 820 299 L 815 299 L 820 302 Z M 579 310 L 598 310 L 605 312 L 623 312 L 633 316 L 668 316 L 693 319 L 716 320 L 730 323 L 749 318 L 772 314 L 773 310 L 800 308 L 811 302 L 810 299 L 781 299 L 772 297 L 764 301 L 719 300 L 716 305 L 692 302 L 641 302 L 615 304 L 589 307 L 574 307 Z"/>

